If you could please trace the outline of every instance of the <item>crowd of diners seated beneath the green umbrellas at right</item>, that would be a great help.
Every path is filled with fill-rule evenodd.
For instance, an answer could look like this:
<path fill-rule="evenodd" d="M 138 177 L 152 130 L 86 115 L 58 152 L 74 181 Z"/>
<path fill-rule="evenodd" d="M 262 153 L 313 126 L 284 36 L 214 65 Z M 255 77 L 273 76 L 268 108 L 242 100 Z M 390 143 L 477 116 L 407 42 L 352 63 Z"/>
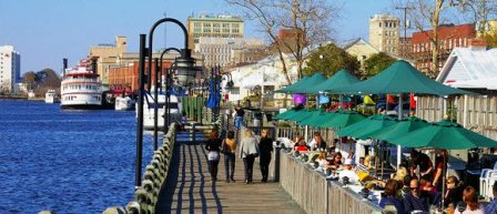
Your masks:
<path fill-rule="evenodd" d="M 435 162 L 417 150 L 410 151 L 408 164 L 400 165 L 388 180 L 369 176 L 373 167 L 372 156 L 362 156 L 354 163 L 354 152 L 349 151 L 344 157 L 336 150 L 338 140 L 327 144 L 318 132 L 307 143 L 303 136 L 295 136 L 293 150 L 298 153 L 317 153 L 314 163 L 316 167 L 332 171 L 332 175 L 347 183 L 361 183 L 368 191 L 375 186 L 384 192 L 378 205 L 383 208 L 394 206 L 399 214 L 428 213 L 443 207 L 447 213 L 456 214 L 497 214 L 497 200 L 484 206 L 478 202 L 475 187 L 459 181 L 452 175 L 444 179 L 443 172 L 447 167 L 447 151 L 436 150 Z M 310 155 L 311 156 L 311 155 Z M 314 155 L 313 155 L 314 156 Z M 435 163 L 435 164 L 434 164 Z M 344 179 L 346 177 L 346 179 Z M 445 182 L 445 187 L 443 184 Z M 494 184 L 494 194 L 497 197 L 497 182 Z"/>

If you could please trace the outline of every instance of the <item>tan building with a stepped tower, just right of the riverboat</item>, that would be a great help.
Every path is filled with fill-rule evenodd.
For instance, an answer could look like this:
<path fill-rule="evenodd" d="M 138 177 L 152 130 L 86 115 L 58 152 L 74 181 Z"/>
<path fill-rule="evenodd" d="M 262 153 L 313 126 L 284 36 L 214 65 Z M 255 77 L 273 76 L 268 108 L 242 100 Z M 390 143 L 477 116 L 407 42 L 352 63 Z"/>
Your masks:
<path fill-rule="evenodd" d="M 114 44 L 99 44 L 90 48 L 89 58 L 97 58 L 97 72 L 104 86 L 109 85 L 109 67 L 114 65 L 118 55 L 126 51 L 126 38 L 115 37 Z"/>

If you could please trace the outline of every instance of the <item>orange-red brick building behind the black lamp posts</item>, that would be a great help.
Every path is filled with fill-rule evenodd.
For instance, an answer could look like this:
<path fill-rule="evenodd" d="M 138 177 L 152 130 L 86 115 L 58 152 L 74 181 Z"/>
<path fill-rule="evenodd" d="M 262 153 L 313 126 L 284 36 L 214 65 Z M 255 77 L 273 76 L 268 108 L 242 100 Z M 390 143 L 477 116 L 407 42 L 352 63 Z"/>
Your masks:
<path fill-rule="evenodd" d="M 162 68 L 171 67 L 171 62 L 163 62 Z M 145 65 L 145 72 L 146 72 Z M 152 62 L 152 82 L 154 83 L 155 63 Z M 124 67 L 109 68 L 109 89 L 114 91 L 133 92 L 139 89 L 139 62 L 132 62 Z M 146 88 L 146 83 L 145 83 Z"/>

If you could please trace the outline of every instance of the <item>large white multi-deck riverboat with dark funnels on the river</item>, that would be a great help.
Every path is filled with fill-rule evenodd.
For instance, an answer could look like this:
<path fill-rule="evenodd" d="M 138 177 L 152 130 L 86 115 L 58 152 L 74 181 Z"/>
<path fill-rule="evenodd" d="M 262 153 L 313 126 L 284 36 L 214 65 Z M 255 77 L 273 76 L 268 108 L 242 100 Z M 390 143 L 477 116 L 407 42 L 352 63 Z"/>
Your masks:
<path fill-rule="evenodd" d="M 67 69 L 61 82 L 62 109 L 101 109 L 102 82 L 99 74 L 87 69 L 88 60 Z"/>

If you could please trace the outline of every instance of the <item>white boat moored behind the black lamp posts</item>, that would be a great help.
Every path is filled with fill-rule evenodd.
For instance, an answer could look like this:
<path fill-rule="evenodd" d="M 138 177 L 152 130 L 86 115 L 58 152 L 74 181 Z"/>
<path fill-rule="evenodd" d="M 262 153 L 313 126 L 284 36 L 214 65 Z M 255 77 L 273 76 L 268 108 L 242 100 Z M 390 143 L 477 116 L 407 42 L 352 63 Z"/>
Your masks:
<path fill-rule="evenodd" d="M 146 95 L 143 98 L 143 128 L 145 130 L 153 130 L 154 122 L 154 106 L 155 102 L 153 95 L 145 93 Z M 158 129 L 164 129 L 164 118 L 165 118 L 165 95 L 159 94 L 158 96 Z M 170 96 L 170 122 L 179 121 L 181 119 L 181 104 L 178 100 L 178 96 Z M 138 115 L 138 103 L 136 103 L 136 115 Z"/>

